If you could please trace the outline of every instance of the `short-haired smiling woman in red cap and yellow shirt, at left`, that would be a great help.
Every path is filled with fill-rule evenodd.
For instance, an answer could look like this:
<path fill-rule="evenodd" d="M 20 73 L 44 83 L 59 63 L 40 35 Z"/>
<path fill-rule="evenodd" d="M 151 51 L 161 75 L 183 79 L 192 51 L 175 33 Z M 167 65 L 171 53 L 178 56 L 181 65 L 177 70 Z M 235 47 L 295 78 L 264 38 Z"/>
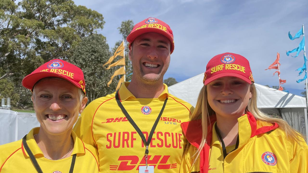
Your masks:
<path fill-rule="evenodd" d="M 22 80 L 40 127 L 0 146 L 0 172 L 98 172 L 97 151 L 73 125 L 87 103 L 82 70 L 64 60 L 46 62 Z"/>

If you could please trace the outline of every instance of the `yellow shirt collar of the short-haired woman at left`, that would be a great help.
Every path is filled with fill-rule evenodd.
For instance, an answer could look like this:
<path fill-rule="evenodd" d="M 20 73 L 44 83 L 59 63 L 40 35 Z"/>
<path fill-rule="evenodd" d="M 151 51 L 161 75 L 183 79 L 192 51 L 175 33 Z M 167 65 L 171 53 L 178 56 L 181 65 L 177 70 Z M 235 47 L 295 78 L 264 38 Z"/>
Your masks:
<path fill-rule="evenodd" d="M 36 141 L 34 139 L 34 135 L 39 133 L 39 128 L 40 127 L 35 127 L 28 133 L 28 135 L 26 137 L 26 142 L 27 142 L 27 144 L 28 144 L 28 146 L 29 146 L 29 148 L 32 151 L 34 156 L 44 157 L 42 150 L 39 148 L 38 144 L 36 143 Z M 74 149 L 73 149 L 73 152 L 71 153 L 71 155 L 76 154 L 76 153 L 85 154 L 86 151 L 85 151 L 83 141 L 78 138 L 78 136 L 75 134 L 74 131 L 71 132 L 71 136 L 74 140 Z M 23 152 L 24 155 L 29 157 L 29 154 L 26 152 L 23 144 L 22 144 L 22 152 Z"/>

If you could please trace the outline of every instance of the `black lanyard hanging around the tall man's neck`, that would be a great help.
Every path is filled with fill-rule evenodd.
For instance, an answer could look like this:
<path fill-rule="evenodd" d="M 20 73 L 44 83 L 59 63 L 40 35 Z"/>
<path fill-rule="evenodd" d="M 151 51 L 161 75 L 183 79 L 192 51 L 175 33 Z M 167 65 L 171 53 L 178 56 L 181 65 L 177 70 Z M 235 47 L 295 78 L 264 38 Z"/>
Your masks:
<path fill-rule="evenodd" d="M 156 119 L 156 121 L 155 121 L 155 123 L 154 123 L 154 125 L 153 125 L 153 127 L 152 127 L 152 130 L 151 130 L 151 132 L 150 132 L 150 134 L 149 134 L 149 137 L 148 137 L 148 141 L 145 139 L 144 134 L 141 132 L 140 128 L 137 126 L 137 124 L 134 122 L 134 120 L 132 119 L 132 117 L 128 114 L 128 112 L 126 111 L 126 109 L 125 109 L 124 106 L 122 105 L 122 103 L 121 103 L 121 101 L 120 101 L 120 99 L 119 99 L 119 90 L 115 93 L 115 100 L 116 100 L 116 102 L 118 103 L 119 107 L 121 108 L 122 112 L 124 113 L 125 117 L 128 119 L 128 121 L 132 124 L 132 126 L 133 126 L 133 127 L 135 128 L 135 130 L 138 132 L 140 138 L 142 139 L 143 143 L 144 143 L 145 146 L 146 146 L 145 155 L 148 155 L 148 154 L 149 154 L 149 150 L 148 150 L 149 144 L 150 144 L 150 142 L 151 142 L 151 140 L 152 140 L 152 136 L 153 136 L 153 133 L 154 133 L 154 131 L 155 131 L 155 129 L 156 129 L 156 126 L 157 126 L 157 124 L 158 124 L 158 121 L 159 121 L 161 115 L 162 115 L 163 112 L 164 112 L 164 108 L 165 108 L 165 106 L 166 106 L 168 97 L 165 99 L 164 105 L 163 105 L 163 107 L 161 108 L 160 113 L 159 113 L 159 115 L 158 115 L 158 117 L 157 117 L 157 119 Z"/>

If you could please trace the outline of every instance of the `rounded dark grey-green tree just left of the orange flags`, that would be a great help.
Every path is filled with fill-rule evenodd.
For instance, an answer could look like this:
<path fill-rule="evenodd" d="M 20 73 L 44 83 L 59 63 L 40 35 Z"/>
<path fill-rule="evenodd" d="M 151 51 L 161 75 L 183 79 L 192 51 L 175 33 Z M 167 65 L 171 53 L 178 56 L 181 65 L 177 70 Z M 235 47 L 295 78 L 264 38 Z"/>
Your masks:
<path fill-rule="evenodd" d="M 107 82 L 116 68 L 106 70 L 103 67 L 110 56 L 106 38 L 101 34 L 92 34 L 82 39 L 73 49 L 73 56 L 68 59 L 83 70 L 88 103 L 115 91 L 117 82 L 112 82 L 110 87 L 107 87 Z"/>

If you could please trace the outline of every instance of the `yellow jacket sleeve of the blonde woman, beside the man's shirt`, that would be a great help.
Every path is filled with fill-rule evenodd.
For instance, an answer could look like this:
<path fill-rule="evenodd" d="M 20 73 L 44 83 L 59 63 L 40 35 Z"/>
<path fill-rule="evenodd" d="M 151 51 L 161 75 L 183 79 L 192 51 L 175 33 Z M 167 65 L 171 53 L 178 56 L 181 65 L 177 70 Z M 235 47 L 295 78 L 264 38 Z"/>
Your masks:
<path fill-rule="evenodd" d="M 196 152 L 197 148 L 188 144 L 181 160 L 180 173 L 200 172 L 200 156 L 198 156 L 195 164 L 193 164 L 194 160 L 196 159 Z"/>

